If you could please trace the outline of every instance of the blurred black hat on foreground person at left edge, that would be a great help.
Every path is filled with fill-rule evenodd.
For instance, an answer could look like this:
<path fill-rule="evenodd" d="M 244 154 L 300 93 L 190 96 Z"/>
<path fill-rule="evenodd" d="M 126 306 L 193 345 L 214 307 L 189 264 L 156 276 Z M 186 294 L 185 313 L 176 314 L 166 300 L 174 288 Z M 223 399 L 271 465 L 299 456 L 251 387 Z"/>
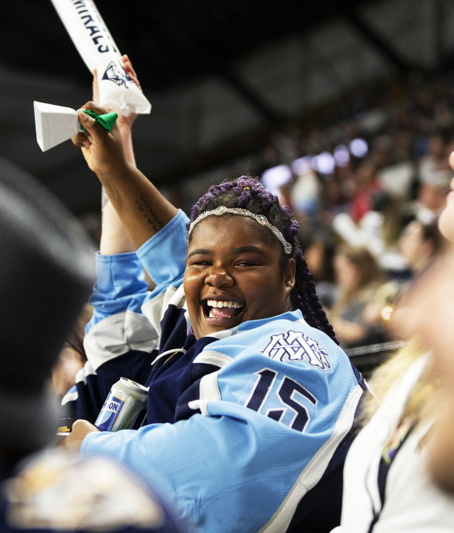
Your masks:
<path fill-rule="evenodd" d="M 93 252 L 60 201 L 0 158 L 0 445 L 31 451 L 55 434 L 45 380 L 90 295 Z"/>

